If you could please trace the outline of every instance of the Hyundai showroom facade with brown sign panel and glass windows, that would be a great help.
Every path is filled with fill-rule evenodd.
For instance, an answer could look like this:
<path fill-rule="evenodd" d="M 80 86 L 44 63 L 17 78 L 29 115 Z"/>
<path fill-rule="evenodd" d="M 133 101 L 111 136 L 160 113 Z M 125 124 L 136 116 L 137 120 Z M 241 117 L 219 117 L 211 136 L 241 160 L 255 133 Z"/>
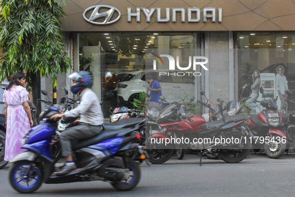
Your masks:
<path fill-rule="evenodd" d="M 295 93 L 291 0 L 69 0 L 64 11 L 65 50 L 74 71 L 93 73 L 105 117 L 109 107 L 129 104 L 146 91 L 147 72 L 155 73 L 170 100 L 187 94 L 201 100 L 204 89 L 217 103 L 245 97 L 242 87 L 252 85 L 254 70 L 261 73 L 265 96 L 276 97 L 281 65 Z M 175 70 L 160 67 L 171 65 L 169 57 Z M 59 76 L 58 97 L 62 86 L 70 87 L 67 75 L 73 70 Z"/>

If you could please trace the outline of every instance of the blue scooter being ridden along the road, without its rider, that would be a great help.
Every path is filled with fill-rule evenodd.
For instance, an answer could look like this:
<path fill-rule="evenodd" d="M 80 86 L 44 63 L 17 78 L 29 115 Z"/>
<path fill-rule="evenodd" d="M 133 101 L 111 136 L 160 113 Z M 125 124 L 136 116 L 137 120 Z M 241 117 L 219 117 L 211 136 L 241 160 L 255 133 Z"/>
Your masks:
<path fill-rule="evenodd" d="M 144 151 L 135 141 L 140 137 L 136 131 L 137 122 L 125 129 L 104 131 L 94 137 L 72 143 L 77 169 L 64 175 L 51 174 L 54 171 L 54 158 L 49 143 L 56 130 L 56 121 L 49 119 L 59 113 L 55 107 L 41 112 L 44 123 L 33 127 L 24 137 L 22 152 L 11 159 L 8 170 L 10 185 L 20 193 L 33 192 L 45 183 L 66 183 L 75 181 L 104 180 L 118 190 L 130 190 L 140 179 L 140 167 L 128 156 L 137 149 L 141 157 Z M 141 120 L 142 121 L 142 120 Z"/>

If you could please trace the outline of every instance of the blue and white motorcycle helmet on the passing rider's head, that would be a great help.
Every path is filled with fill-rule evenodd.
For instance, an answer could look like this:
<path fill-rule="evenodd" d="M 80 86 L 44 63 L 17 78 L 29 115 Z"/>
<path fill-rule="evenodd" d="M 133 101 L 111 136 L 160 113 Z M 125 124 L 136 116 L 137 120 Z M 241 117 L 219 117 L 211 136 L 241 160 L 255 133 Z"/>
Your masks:
<path fill-rule="evenodd" d="M 91 87 L 93 84 L 93 76 L 87 71 L 73 72 L 68 76 L 72 81 L 77 81 L 78 84 L 71 86 L 73 93 L 81 93 L 85 87 Z"/>

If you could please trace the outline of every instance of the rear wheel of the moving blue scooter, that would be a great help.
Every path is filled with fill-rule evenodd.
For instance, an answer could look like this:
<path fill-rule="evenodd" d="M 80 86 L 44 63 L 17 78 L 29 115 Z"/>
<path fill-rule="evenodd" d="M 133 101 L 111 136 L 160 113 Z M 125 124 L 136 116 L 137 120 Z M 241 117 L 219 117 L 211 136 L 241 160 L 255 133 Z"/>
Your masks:
<path fill-rule="evenodd" d="M 113 187 L 120 191 L 128 191 L 134 188 L 140 179 L 139 164 L 133 159 L 129 159 L 129 165 L 124 169 L 124 177 L 118 182 L 112 182 Z"/>

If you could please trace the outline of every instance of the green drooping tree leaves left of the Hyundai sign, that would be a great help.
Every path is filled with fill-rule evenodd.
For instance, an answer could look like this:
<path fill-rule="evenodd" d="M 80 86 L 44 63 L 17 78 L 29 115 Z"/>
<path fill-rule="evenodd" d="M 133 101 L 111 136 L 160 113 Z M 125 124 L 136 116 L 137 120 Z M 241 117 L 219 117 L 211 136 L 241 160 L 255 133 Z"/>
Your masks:
<path fill-rule="evenodd" d="M 52 76 L 71 67 L 60 18 L 65 0 L 0 1 L 0 81 L 16 71 Z M 27 78 L 29 79 L 29 78 Z M 28 82 L 30 82 L 28 80 Z"/>

